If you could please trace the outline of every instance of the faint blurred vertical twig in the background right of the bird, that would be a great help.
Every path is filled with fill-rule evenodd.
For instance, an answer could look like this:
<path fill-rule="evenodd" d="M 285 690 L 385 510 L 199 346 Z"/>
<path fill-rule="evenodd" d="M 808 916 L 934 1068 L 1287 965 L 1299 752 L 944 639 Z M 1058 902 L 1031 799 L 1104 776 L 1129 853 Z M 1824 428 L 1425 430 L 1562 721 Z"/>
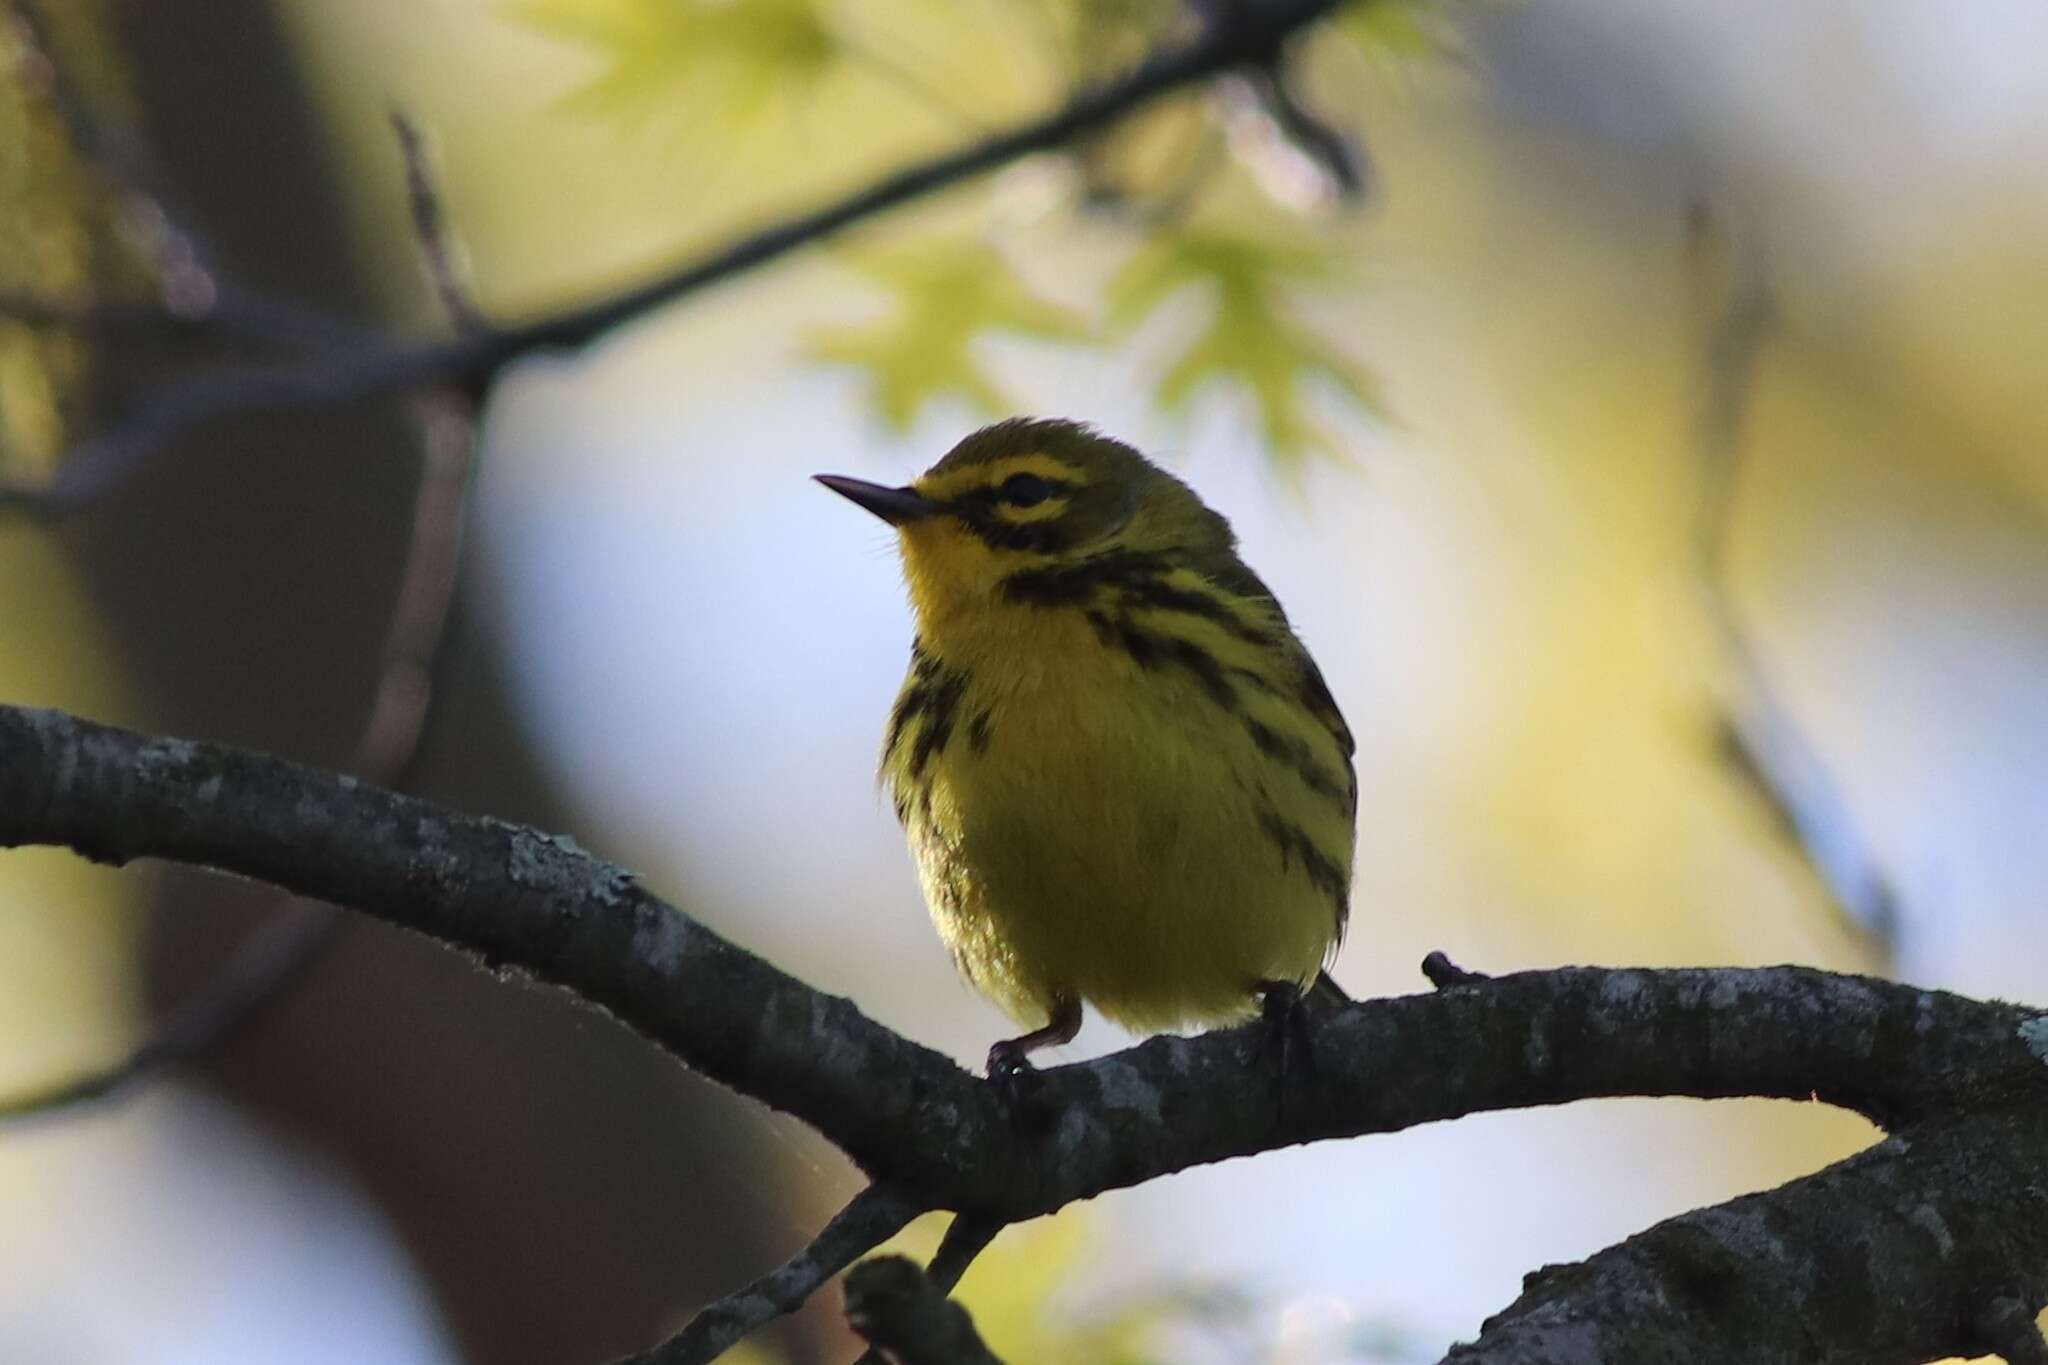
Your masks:
<path fill-rule="evenodd" d="M 1778 325 L 1778 309 L 1757 248 L 1731 241 L 1704 209 L 1690 223 L 1694 272 L 1712 276 L 1716 256 L 1724 278 L 1702 280 L 1716 291 L 1706 342 L 1706 395 L 1694 448 L 1700 460 L 1700 501 L 1694 522 L 1698 581 L 1708 626 L 1733 688 L 1716 716 L 1726 769 L 1772 814 L 1784 843 L 1812 872 L 1835 911 L 1890 962 L 1898 937 L 1898 894 L 1858 829 L 1833 776 L 1778 696 L 1751 645 L 1729 583 L 1729 536 L 1735 522 L 1743 460 L 1743 426 L 1755 393 L 1757 360 Z"/>

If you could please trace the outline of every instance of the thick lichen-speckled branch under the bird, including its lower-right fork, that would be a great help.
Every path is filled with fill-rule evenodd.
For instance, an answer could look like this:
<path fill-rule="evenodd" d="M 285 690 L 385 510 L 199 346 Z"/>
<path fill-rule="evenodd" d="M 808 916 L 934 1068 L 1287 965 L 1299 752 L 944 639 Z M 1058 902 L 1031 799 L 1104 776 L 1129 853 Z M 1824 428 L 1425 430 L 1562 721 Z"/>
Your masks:
<path fill-rule="evenodd" d="M 1522 972 L 1319 1015 L 1284 1109 L 1255 1027 L 1051 1068 L 1057 1124 L 1034 1136 L 948 1058 L 532 829 L 0 708 L 0 845 L 27 843 L 221 868 L 565 986 L 907 1205 L 983 1226 L 1296 1142 L 1595 1097 L 1819 1099 L 1890 1132 L 1532 1277 L 1460 1361 L 1917 1365 L 1974 1349 L 1997 1297 L 2048 1302 L 2048 1015 L 2015 1005 L 1806 968 Z"/>

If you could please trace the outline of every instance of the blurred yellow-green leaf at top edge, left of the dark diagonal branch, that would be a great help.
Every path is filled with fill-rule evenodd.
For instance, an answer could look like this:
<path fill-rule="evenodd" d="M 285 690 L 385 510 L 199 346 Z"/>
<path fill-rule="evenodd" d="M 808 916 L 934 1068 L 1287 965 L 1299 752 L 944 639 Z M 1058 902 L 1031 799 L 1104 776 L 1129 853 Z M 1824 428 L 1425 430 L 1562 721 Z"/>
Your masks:
<path fill-rule="evenodd" d="M 594 49 L 602 68 L 567 102 L 606 113 L 682 96 L 750 123 L 846 55 L 825 0 L 518 0 L 508 14 Z"/>

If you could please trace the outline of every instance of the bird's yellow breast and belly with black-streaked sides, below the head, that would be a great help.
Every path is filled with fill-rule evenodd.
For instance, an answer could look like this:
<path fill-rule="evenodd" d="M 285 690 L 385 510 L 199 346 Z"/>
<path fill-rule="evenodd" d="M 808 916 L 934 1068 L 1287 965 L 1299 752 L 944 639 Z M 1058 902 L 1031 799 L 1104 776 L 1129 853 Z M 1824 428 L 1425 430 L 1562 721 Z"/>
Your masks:
<path fill-rule="evenodd" d="M 883 780 L 985 995 L 1024 1023 L 1083 999 L 1155 1029 L 1315 976 L 1350 886 L 1350 761 L 1274 647 L 1108 598 L 920 624 Z"/>

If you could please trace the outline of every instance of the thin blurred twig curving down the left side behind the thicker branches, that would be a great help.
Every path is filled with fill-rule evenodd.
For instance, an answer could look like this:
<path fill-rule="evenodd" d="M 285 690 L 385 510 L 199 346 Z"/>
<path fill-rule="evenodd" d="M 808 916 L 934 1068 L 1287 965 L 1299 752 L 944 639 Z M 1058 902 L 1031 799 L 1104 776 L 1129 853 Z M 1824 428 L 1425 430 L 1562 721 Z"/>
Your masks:
<path fill-rule="evenodd" d="M 420 252 L 436 295 L 457 325 L 475 325 L 444 215 L 422 145 L 399 123 L 408 188 Z M 348 769 L 383 786 L 412 780 L 436 694 L 449 610 L 461 577 L 463 520 L 475 458 L 475 401 L 459 393 L 426 393 L 414 401 L 420 483 L 412 503 L 412 534 L 399 571 L 397 598 L 385 628 L 377 688 L 356 737 Z M 219 1048 L 295 986 L 336 939 L 342 913 L 334 905 L 287 896 L 268 923 L 240 943 L 211 978 L 150 1025 L 129 1056 L 98 1072 L 45 1091 L 0 1099 L 0 1121 L 49 1115 L 117 1097 L 164 1070 Z"/>

